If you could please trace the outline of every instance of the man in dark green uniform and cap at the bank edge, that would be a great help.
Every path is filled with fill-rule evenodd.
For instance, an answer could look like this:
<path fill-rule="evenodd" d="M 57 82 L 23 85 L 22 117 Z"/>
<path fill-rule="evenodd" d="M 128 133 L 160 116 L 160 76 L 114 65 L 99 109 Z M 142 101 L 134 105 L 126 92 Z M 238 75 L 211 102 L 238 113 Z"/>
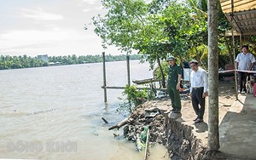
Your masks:
<path fill-rule="evenodd" d="M 180 82 L 182 77 L 181 67 L 176 64 L 176 59 L 171 56 L 168 58 L 168 80 L 167 92 L 172 101 L 172 112 L 180 113 L 181 101 L 179 96 Z"/>

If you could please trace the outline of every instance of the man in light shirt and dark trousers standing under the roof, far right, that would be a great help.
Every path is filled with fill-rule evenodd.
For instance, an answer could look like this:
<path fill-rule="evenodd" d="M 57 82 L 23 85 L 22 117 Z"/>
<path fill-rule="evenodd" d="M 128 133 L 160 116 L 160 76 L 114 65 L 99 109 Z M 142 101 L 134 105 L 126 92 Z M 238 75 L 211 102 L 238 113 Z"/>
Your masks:
<path fill-rule="evenodd" d="M 253 68 L 253 63 L 255 62 L 255 58 L 253 54 L 248 52 L 248 46 L 242 45 L 241 46 L 241 53 L 236 56 L 236 68 L 238 70 L 238 84 L 239 84 L 239 91 L 242 92 L 242 89 L 245 93 L 247 93 L 246 89 L 246 81 L 247 76 L 249 75 L 245 71 L 251 71 Z"/>

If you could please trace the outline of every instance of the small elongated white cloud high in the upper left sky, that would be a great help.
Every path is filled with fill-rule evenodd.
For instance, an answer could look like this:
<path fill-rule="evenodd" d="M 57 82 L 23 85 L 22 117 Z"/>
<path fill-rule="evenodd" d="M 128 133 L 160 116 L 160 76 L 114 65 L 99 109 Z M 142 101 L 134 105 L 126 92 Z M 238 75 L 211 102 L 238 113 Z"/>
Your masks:
<path fill-rule="evenodd" d="M 21 9 L 23 16 L 35 20 L 63 20 L 59 14 L 46 13 L 42 9 Z"/>

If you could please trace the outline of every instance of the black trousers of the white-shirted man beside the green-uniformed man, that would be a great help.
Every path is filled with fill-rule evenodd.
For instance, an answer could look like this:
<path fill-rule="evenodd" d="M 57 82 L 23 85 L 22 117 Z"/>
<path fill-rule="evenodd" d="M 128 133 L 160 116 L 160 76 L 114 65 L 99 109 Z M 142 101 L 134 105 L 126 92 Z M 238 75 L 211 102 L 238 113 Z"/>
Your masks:
<path fill-rule="evenodd" d="M 202 98 L 204 88 L 193 88 L 191 93 L 192 106 L 198 118 L 203 119 L 206 109 L 206 98 Z M 200 105 L 200 107 L 199 107 Z"/>

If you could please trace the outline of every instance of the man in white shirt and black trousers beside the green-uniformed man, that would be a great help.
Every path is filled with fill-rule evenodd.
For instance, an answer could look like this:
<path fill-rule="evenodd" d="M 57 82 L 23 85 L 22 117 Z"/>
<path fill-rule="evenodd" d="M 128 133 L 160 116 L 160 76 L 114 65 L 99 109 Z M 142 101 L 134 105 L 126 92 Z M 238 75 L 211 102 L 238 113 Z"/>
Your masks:
<path fill-rule="evenodd" d="M 206 107 L 206 97 L 208 89 L 208 77 L 207 71 L 198 66 L 198 61 L 191 60 L 189 65 L 192 69 L 190 74 L 190 96 L 192 100 L 192 106 L 194 108 L 195 114 L 195 123 L 203 122 L 203 117 Z M 201 106 L 199 108 L 199 105 Z"/>

